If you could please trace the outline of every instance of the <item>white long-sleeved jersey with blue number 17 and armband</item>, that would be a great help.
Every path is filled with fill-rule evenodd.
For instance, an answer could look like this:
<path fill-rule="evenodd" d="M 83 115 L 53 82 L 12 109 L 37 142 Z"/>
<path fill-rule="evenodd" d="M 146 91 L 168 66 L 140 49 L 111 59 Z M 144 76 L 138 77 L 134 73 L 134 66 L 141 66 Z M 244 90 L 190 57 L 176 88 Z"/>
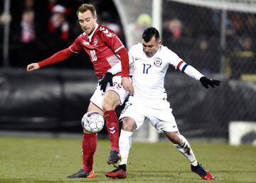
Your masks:
<path fill-rule="evenodd" d="M 189 66 L 175 52 L 163 45 L 159 46 L 154 56 L 147 57 L 142 43 L 138 43 L 129 50 L 129 60 L 132 61 L 132 83 L 134 86 L 134 96 L 130 96 L 129 101 L 139 100 L 142 104 L 156 109 L 161 109 L 161 104 L 166 105 L 164 78 L 169 65 L 173 65 L 182 72 L 185 72 Z M 185 73 L 196 79 L 203 76 L 193 67 Z"/>

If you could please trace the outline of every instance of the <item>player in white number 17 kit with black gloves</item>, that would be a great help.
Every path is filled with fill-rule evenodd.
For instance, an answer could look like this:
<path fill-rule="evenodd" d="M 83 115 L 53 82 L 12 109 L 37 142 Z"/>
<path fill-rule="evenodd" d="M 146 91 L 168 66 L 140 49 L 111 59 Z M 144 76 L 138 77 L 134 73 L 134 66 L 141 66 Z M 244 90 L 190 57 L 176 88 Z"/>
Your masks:
<path fill-rule="evenodd" d="M 220 81 L 208 79 L 191 65 L 186 64 L 176 53 L 161 45 L 159 32 L 156 28 L 147 28 L 142 35 L 142 43 L 134 45 L 129 50 L 130 67 L 134 95 L 129 96 L 120 118 L 123 119 L 122 131 L 119 137 L 119 150 L 122 157 L 119 167 L 112 172 L 106 172 L 107 177 L 127 177 L 127 159 L 132 146 L 132 133 L 148 118 L 151 125 L 159 133 L 164 133 L 191 164 L 191 170 L 202 179 L 213 180 L 210 172 L 204 170 L 196 160 L 188 140 L 178 131 L 169 101 L 164 89 L 164 77 L 169 65 L 197 79 L 203 87 L 215 87 Z"/>

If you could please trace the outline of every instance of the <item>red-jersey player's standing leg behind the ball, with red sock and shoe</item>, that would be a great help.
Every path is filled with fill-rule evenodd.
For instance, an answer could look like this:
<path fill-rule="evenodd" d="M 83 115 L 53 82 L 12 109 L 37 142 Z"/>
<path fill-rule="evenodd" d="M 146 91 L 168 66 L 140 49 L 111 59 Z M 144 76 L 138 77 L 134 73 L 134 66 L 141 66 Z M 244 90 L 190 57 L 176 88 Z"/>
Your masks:
<path fill-rule="evenodd" d="M 97 111 L 100 114 L 102 110 L 92 104 L 89 104 L 87 111 Z M 93 156 L 95 154 L 97 148 L 97 133 L 87 133 L 83 131 L 82 135 L 82 169 L 76 172 L 75 174 L 71 174 L 68 178 L 93 178 L 95 177 L 95 172 L 92 170 L 93 165 Z"/>

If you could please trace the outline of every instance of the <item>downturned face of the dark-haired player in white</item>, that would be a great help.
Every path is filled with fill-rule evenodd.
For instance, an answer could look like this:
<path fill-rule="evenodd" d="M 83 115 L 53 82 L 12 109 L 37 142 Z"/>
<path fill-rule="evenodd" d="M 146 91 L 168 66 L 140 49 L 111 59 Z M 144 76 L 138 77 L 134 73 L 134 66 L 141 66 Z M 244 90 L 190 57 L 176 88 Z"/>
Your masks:
<path fill-rule="evenodd" d="M 155 37 L 151 38 L 151 40 L 149 40 L 147 43 L 142 39 L 143 51 L 147 57 L 153 57 L 155 55 L 159 48 L 159 44 L 159 40 L 156 40 Z"/>

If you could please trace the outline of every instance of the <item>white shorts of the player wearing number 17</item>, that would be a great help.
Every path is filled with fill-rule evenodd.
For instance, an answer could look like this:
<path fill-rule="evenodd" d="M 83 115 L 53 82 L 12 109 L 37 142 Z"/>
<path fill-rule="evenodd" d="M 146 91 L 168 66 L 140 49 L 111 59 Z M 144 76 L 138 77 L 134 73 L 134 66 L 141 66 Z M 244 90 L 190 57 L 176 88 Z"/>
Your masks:
<path fill-rule="evenodd" d="M 178 126 L 171 111 L 171 108 L 153 109 L 149 106 L 139 104 L 139 102 L 136 101 L 127 101 L 119 118 L 133 118 L 137 129 L 142 126 L 145 118 L 148 118 L 151 125 L 154 126 L 159 133 L 163 133 L 164 131 L 178 131 Z"/>

